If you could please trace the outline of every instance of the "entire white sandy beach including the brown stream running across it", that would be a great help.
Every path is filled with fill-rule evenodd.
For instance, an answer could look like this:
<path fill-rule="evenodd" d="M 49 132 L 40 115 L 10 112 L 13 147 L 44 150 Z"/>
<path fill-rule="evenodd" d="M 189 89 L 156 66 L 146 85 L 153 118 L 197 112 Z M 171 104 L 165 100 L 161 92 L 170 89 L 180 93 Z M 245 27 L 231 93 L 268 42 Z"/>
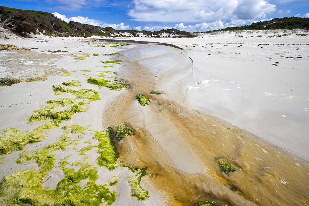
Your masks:
<path fill-rule="evenodd" d="M 110 194 L 117 194 L 116 202 L 105 199 L 103 205 L 193 205 L 205 200 L 223 205 L 286 204 L 283 197 L 290 191 L 294 197 L 287 195 L 291 198 L 288 201 L 295 198 L 299 201 L 295 204 L 306 204 L 309 194 L 306 185 L 309 174 L 309 35 L 268 37 L 277 34 L 286 34 L 286 31 L 222 32 L 197 38 L 115 38 L 169 43 L 184 50 L 155 44 L 111 47 L 103 44 L 109 42 L 93 40 L 98 37 L 0 39 L 0 44 L 32 48 L 31 51 L 0 51 L 0 78 L 47 79 L 0 86 L 0 130 L 9 127 L 31 131 L 50 122 L 28 124 L 27 121 L 33 111 L 49 100 L 70 98 L 74 99 L 74 104 L 85 101 L 83 109 L 88 108 L 43 133 L 41 142 L 2 155 L 0 179 L 35 168 L 38 174 L 43 174 L 42 188 L 48 191 L 55 190 L 68 176 L 65 168 L 74 168 L 75 172 L 91 168 L 98 173 L 95 183 L 104 185 Z M 261 37 L 255 37 L 258 35 Z M 61 51 L 53 53 L 58 50 Z M 121 56 L 106 55 L 112 53 Z M 121 64 L 101 63 L 121 58 L 124 60 Z M 44 70 L 46 67 L 50 70 Z M 42 70 L 44 72 L 38 74 Z M 117 91 L 87 82 L 90 77 L 103 78 L 116 85 L 115 76 L 132 88 Z M 62 85 L 72 80 L 79 80 L 81 86 Z M 140 85 L 139 81 L 145 85 Z M 99 92 L 100 100 L 78 100 L 74 93 L 67 92 L 55 96 L 53 85 L 74 90 L 91 89 Z M 147 94 L 149 89 L 164 93 L 150 95 Z M 134 92 L 148 95 L 150 105 L 139 105 L 133 98 Z M 69 106 L 72 105 L 57 109 L 61 112 Z M 136 134 L 117 143 L 120 157 L 114 164 L 115 170 L 108 169 L 110 164 L 98 166 L 99 151 L 107 149 L 98 146 L 100 141 L 95 135 L 103 134 L 109 126 L 116 129 L 123 122 L 129 123 Z M 84 130 L 73 132 L 74 125 Z M 200 137 L 203 132 L 205 137 Z M 65 149 L 48 151 L 48 156 L 55 159 L 48 175 L 40 173 L 42 166 L 38 160 L 33 160 L 34 156 L 31 160 L 23 156 L 27 152 L 52 148 L 50 145 L 62 141 L 63 135 L 69 136 L 63 142 Z M 209 140 L 201 142 L 206 137 Z M 214 157 L 218 156 L 231 159 L 238 171 L 231 176 L 218 169 L 214 171 L 218 167 Z M 40 159 L 41 156 L 36 153 L 35 157 Z M 282 165 L 284 159 L 287 162 Z M 19 160 L 22 163 L 17 164 Z M 149 174 L 139 176 L 146 167 Z M 134 171 L 134 168 L 138 169 Z M 301 181 L 294 181 L 292 176 L 287 179 L 290 174 Z M 138 178 L 141 178 L 140 186 L 137 186 Z M 118 183 L 112 184 L 115 180 Z M 90 183 L 93 182 L 89 175 L 74 188 L 86 188 Z M 254 191 L 255 187 L 260 189 Z M 33 196 L 29 195 L 31 189 L 25 183 L 20 188 L 12 189 L 11 195 Z M 284 192 L 273 193 L 277 190 Z M 149 192 L 149 198 L 145 191 Z M 142 196 L 146 200 L 138 201 L 137 197 Z M 48 195 L 44 197 L 49 198 Z M 8 199 L 0 197 L 0 201 Z"/>

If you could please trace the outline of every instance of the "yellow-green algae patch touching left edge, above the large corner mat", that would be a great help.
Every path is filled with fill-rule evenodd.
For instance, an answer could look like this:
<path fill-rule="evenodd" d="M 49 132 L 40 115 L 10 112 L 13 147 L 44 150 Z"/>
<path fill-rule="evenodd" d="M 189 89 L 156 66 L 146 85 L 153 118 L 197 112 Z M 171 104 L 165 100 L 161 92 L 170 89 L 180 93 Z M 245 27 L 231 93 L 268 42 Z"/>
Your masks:
<path fill-rule="evenodd" d="M 52 123 L 46 123 L 37 127 L 33 131 L 22 132 L 15 128 L 5 128 L 0 131 L 0 155 L 10 153 L 12 151 L 23 150 L 27 144 L 40 142 L 42 133 L 53 129 L 56 126 Z"/>

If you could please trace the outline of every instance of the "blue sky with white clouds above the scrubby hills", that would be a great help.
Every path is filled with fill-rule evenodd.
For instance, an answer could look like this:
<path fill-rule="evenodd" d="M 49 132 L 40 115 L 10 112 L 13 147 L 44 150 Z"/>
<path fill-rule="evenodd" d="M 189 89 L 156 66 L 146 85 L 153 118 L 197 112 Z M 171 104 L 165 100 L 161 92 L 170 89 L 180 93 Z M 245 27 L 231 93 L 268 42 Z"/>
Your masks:
<path fill-rule="evenodd" d="M 69 22 L 125 30 L 204 32 L 282 17 L 309 18 L 309 0 L 0 0 Z"/>

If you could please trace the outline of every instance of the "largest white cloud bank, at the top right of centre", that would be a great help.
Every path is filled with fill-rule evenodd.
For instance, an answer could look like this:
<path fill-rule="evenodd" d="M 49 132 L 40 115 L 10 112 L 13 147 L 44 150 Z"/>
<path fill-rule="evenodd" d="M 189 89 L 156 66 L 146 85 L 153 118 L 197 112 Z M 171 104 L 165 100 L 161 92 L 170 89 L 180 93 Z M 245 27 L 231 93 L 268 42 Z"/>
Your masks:
<path fill-rule="evenodd" d="M 276 10 L 264 0 L 133 0 L 128 11 L 134 21 L 201 22 L 226 19 L 265 18 Z"/>

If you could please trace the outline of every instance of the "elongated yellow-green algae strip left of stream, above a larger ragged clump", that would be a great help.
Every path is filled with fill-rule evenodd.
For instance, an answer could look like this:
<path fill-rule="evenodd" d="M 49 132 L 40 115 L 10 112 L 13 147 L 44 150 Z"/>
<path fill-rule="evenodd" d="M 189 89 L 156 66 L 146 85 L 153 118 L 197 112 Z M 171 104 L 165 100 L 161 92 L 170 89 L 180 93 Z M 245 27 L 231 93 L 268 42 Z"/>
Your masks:
<path fill-rule="evenodd" d="M 76 96 L 77 99 L 88 99 L 90 101 L 100 100 L 99 93 L 92 89 L 81 89 L 74 90 L 66 87 L 61 87 L 58 85 L 53 85 L 53 90 L 55 91 L 55 95 L 60 95 L 63 92 L 72 93 Z"/>

